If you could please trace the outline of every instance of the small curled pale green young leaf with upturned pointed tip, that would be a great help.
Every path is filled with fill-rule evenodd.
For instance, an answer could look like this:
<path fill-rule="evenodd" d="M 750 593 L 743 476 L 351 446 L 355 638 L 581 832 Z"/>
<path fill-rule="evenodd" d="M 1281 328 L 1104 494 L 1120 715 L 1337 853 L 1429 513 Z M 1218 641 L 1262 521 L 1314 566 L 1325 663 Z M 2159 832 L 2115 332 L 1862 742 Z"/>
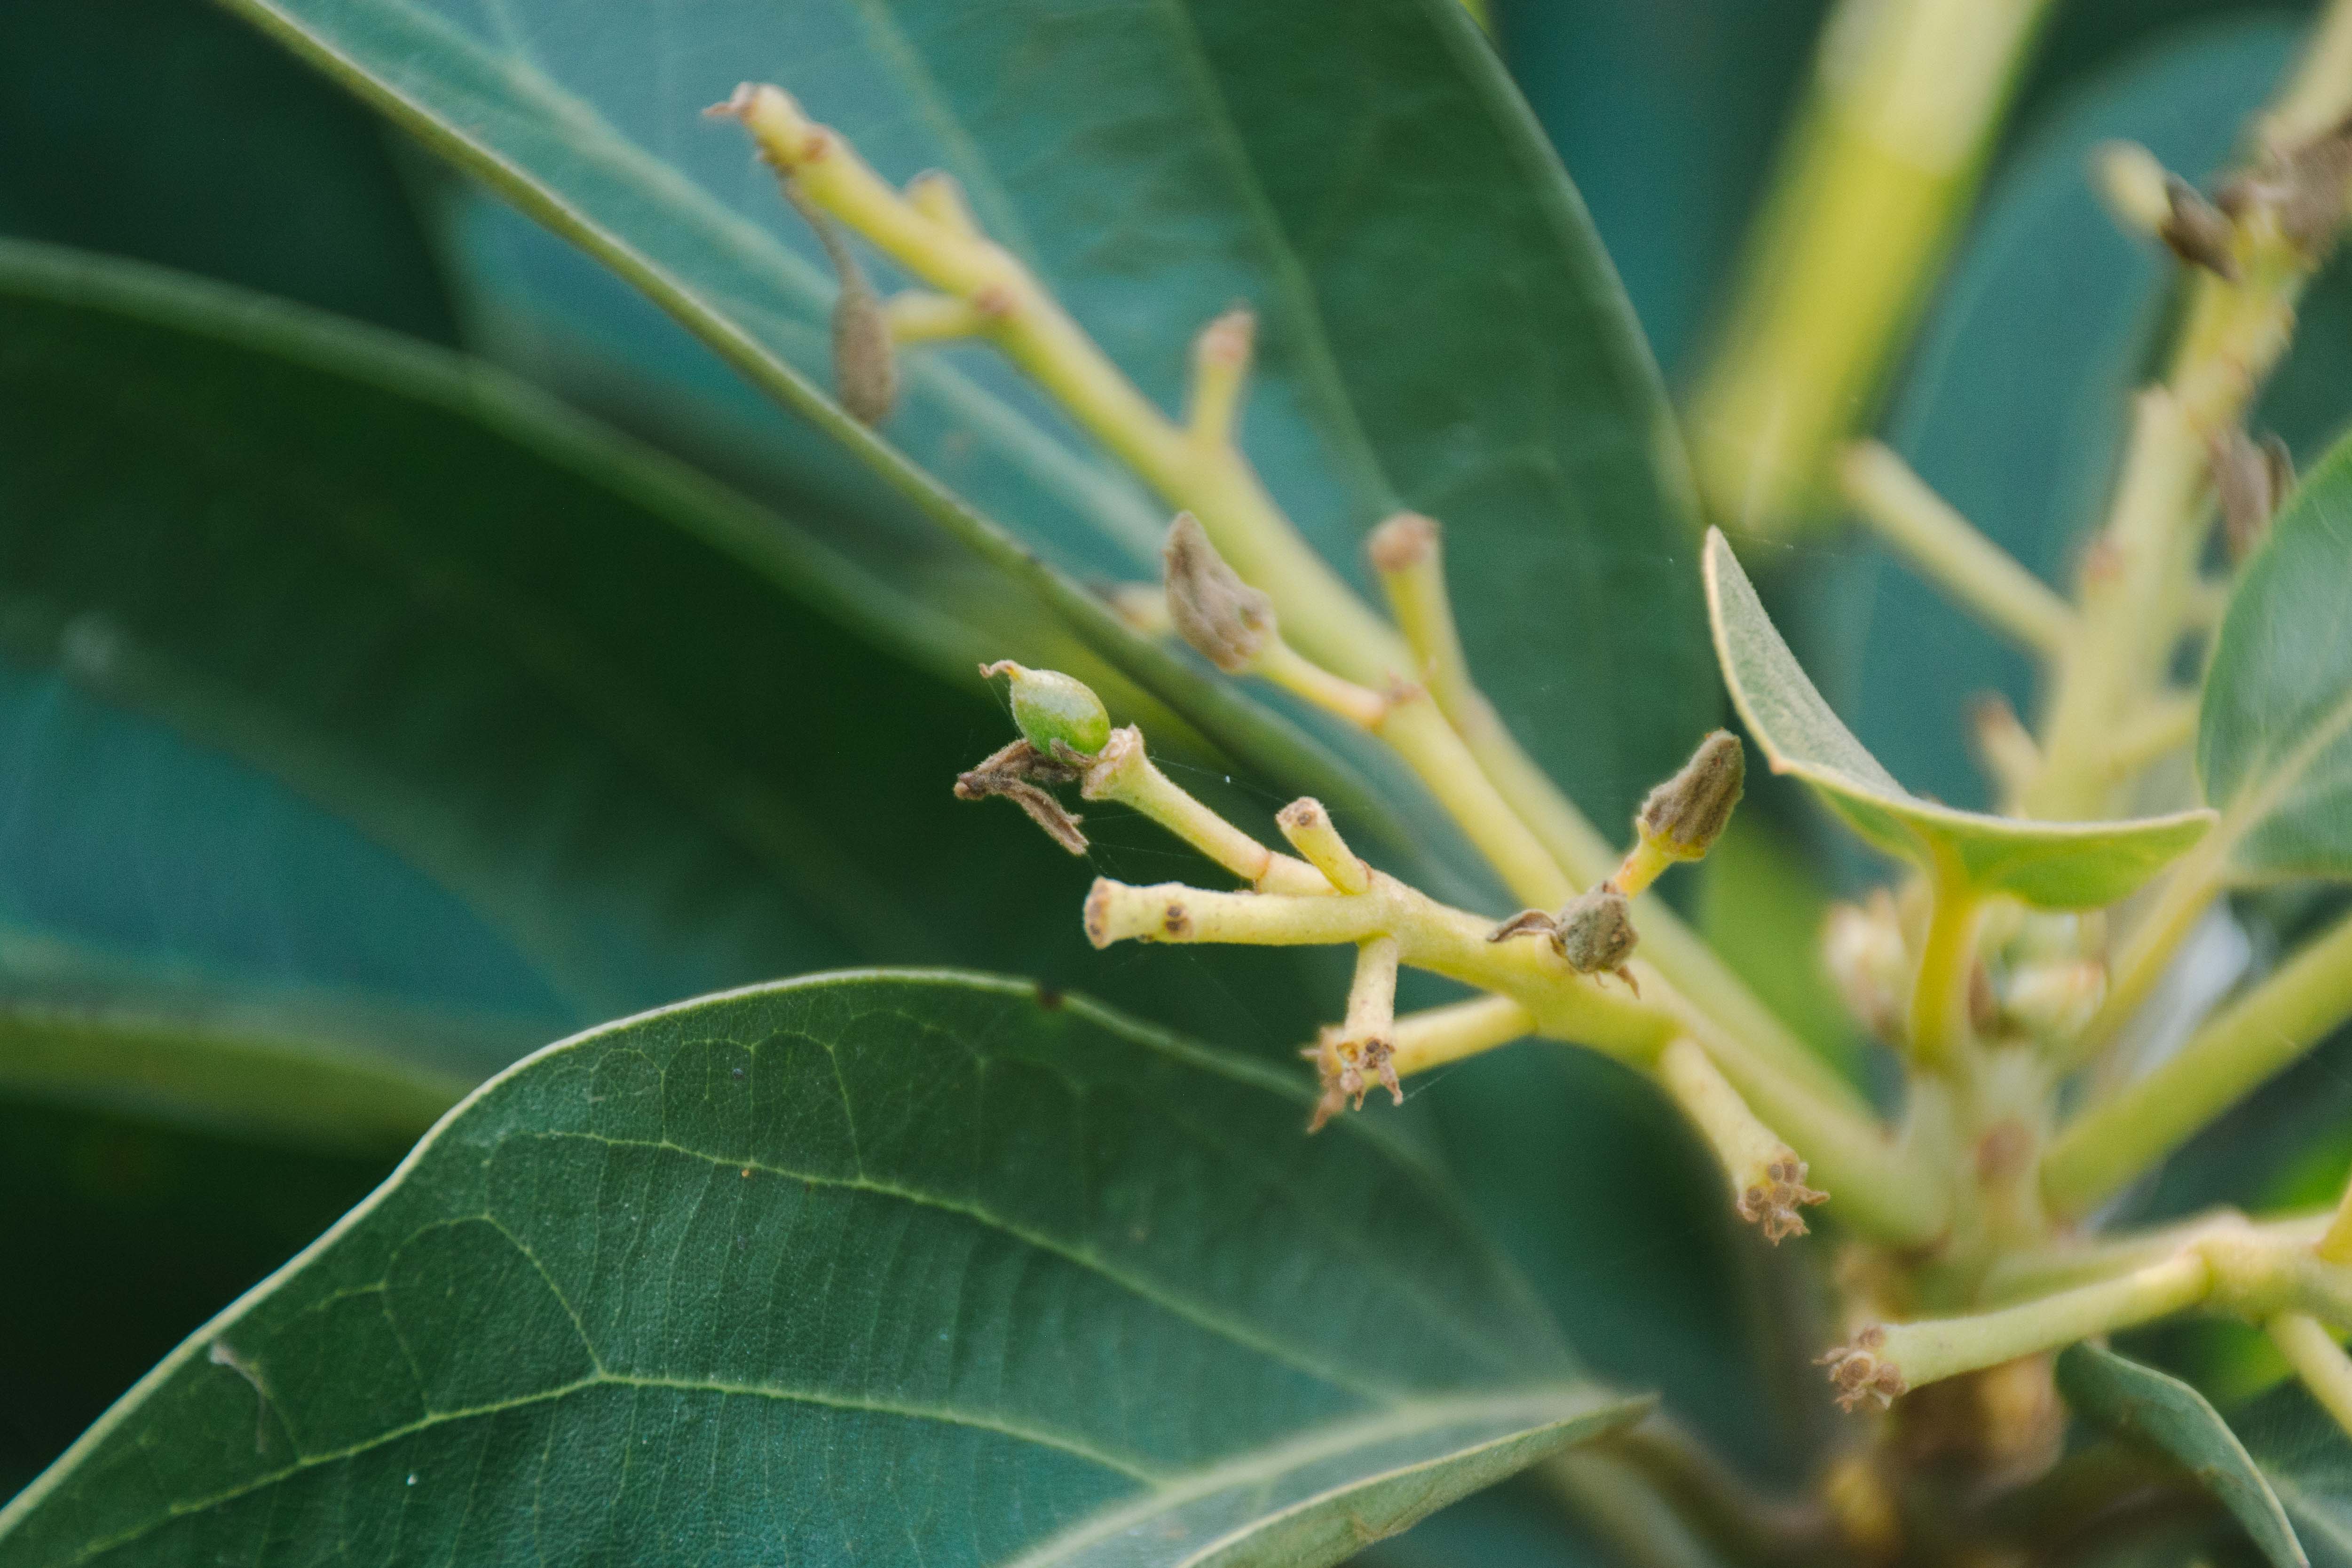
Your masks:
<path fill-rule="evenodd" d="M 2204 837 L 2211 811 L 2129 823 L 2032 823 L 1919 799 L 1863 750 L 1780 632 L 1722 531 L 1708 531 L 1708 609 L 1731 701 L 1771 762 L 1877 849 L 1987 893 L 2053 910 L 2114 903 Z"/>

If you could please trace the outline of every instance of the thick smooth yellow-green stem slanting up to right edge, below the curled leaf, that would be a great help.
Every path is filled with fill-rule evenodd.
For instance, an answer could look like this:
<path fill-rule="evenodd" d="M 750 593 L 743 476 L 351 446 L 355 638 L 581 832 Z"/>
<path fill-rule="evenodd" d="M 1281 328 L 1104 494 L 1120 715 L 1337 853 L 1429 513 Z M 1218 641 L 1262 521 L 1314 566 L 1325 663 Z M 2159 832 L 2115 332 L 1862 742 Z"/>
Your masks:
<path fill-rule="evenodd" d="M 2077 1215 L 2187 1143 L 2352 1016 L 2352 917 L 2209 1018 L 2180 1051 L 2058 1133 L 2042 1194 Z"/>

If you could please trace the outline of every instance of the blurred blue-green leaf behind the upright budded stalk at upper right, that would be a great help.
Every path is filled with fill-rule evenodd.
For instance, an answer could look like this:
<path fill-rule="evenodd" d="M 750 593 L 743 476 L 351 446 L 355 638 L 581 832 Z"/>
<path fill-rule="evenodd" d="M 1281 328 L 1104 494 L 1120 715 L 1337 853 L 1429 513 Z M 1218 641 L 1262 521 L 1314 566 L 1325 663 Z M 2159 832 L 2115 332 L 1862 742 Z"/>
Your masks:
<path fill-rule="evenodd" d="M 2065 28 L 2072 12 L 2056 7 L 2051 26 Z M 2105 505 L 2129 395 L 2173 277 L 2157 244 L 2122 233 L 2100 207 L 2091 148 L 2143 141 L 2190 179 L 2209 176 L 2293 45 L 2296 31 L 2277 16 L 2249 16 L 2161 35 L 2086 78 L 1997 169 L 1926 320 L 1886 418 L 1889 442 L 2053 585 L 2072 585 L 2074 550 Z M 2336 353 L 2326 336 L 2312 322 L 2307 350 Z M 2338 407 L 2352 407 L 2347 388 L 2338 378 Z M 1884 550 L 1860 550 L 1865 562 L 1830 599 L 1832 616 L 1856 618 L 1851 632 L 1830 637 L 1849 642 L 1851 677 L 1823 686 L 1851 691 L 1842 710 L 1898 778 L 1957 806 L 1985 806 L 1966 705 L 1978 691 L 2002 691 L 2032 712 L 2032 663 Z"/>

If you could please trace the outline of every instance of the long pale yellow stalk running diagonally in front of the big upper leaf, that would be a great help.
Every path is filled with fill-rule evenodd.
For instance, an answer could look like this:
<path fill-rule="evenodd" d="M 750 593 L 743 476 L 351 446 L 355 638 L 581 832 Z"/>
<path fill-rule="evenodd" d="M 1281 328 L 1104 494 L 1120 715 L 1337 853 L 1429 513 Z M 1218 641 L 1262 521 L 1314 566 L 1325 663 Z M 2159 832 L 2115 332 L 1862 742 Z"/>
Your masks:
<path fill-rule="evenodd" d="M 1428 639 L 1399 637 L 1315 555 L 1258 482 L 1232 440 L 1251 348 L 1247 310 L 1214 320 L 1195 341 L 1192 395 L 1178 423 L 1136 390 L 1016 256 L 981 233 L 946 174 L 920 174 L 903 193 L 891 188 L 856 148 L 811 122 L 776 87 L 743 85 L 710 113 L 743 122 L 795 205 L 811 205 L 922 280 L 924 289 L 884 306 L 901 343 L 974 336 L 997 346 L 1171 508 L 1200 522 L 1237 576 L 1268 597 L 1287 646 L 1301 654 L 1275 654 L 1272 668 L 1258 675 L 1317 686 L 1329 698 L 1336 686 L 1310 675 L 1319 668 L 1381 698 L 1395 693 L 1395 712 L 1383 710 L 1378 738 L 1437 795 L 1515 896 L 1557 905 L 1609 875 L 1616 860 L 1609 842 L 1470 684 L 1458 642 L 1451 642 L 1451 618 L 1404 618 L 1406 630 Z M 1435 550 L 1428 571 L 1437 574 Z M 1369 705 L 1341 703 L 1336 710 L 1350 722 L 1371 717 Z M 1693 1004 L 1780 1072 L 1860 1112 L 1837 1074 L 1823 1070 L 1668 907 L 1646 900 L 1639 924 L 1651 961 Z"/>

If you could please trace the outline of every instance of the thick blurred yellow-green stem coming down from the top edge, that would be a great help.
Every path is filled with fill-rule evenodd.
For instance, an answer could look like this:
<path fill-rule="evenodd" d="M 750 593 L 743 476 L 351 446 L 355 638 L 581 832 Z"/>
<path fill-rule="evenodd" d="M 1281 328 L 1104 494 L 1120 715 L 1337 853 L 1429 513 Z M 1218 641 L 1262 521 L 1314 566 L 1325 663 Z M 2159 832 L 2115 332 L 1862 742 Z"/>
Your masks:
<path fill-rule="evenodd" d="M 1691 456 L 1717 522 L 1776 531 L 1823 489 L 1966 212 L 2049 0 L 1842 0 L 1748 244 Z"/>

